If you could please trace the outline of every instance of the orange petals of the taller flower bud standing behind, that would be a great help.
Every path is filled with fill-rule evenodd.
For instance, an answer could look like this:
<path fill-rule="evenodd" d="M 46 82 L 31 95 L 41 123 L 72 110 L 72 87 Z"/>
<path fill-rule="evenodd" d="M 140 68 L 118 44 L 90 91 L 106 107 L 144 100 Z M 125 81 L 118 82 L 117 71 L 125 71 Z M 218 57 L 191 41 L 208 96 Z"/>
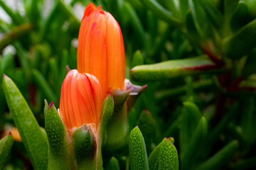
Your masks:
<path fill-rule="evenodd" d="M 125 54 L 122 31 L 114 17 L 92 3 L 85 8 L 78 36 L 78 72 L 95 75 L 108 89 L 124 89 Z"/>

